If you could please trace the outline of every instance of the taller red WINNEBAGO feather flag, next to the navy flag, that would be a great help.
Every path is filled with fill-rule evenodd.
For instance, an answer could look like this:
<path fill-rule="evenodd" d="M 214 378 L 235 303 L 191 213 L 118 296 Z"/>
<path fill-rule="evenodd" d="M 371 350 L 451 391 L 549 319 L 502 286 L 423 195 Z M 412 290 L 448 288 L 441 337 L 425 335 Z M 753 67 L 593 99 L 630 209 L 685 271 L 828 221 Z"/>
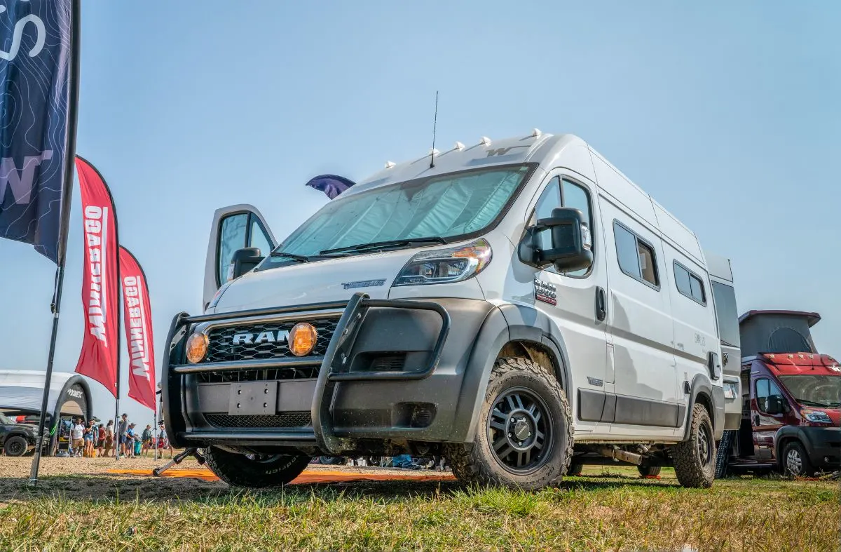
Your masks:
<path fill-rule="evenodd" d="M 89 162 L 76 158 L 82 189 L 82 309 L 85 333 L 76 371 L 117 395 L 119 299 L 117 290 L 117 215 L 108 184 Z"/>

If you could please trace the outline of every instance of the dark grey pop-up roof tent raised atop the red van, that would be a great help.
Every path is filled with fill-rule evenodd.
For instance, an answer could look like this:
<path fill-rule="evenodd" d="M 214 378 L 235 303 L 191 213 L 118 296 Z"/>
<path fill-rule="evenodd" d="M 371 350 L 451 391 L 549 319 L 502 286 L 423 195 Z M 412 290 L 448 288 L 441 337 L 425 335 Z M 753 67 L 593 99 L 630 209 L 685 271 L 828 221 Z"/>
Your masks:
<path fill-rule="evenodd" d="M 742 356 L 817 353 L 809 328 L 820 320 L 817 312 L 748 311 L 738 319 Z"/>

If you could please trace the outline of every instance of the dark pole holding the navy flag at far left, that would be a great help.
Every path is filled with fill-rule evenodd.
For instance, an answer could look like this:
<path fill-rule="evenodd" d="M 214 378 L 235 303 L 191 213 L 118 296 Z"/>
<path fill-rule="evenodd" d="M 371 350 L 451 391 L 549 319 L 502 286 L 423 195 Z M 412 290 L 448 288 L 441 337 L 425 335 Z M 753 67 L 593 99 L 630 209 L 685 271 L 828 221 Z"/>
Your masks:
<path fill-rule="evenodd" d="M 70 207 L 73 198 L 73 162 L 76 153 L 76 127 L 79 106 L 79 36 L 81 24 L 79 22 L 79 0 L 71 3 L 71 56 L 68 61 L 69 93 L 67 99 L 67 138 L 64 159 L 64 183 L 61 186 L 61 213 L 59 215 L 58 252 L 56 255 L 56 280 L 53 288 L 53 300 L 50 310 L 53 315 L 52 332 L 50 333 L 50 349 L 47 353 L 47 369 L 44 376 L 44 395 L 41 397 L 41 410 L 38 418 L 38 436 L 35 439 L 35 454 L 32 458 L 32 468 L 29 471 L 29 485 L 38 485 L 38 468 L 41 462 L 41 450 L 44 449 L 44 426 L 47 416 L 47 405 L 50 401 L 50 383 L 52 380 L 53 361 L 56 358 L 56 337 L 58 336 L 58 319 L 61 311 L 61 289 L 64 287 L 64 266 L 67 252 L 67 235 L 70 227 Z M 56 422 L 56 420 L 53 420 Z M 71 436 L 72 438 L 72 436 Z"/>

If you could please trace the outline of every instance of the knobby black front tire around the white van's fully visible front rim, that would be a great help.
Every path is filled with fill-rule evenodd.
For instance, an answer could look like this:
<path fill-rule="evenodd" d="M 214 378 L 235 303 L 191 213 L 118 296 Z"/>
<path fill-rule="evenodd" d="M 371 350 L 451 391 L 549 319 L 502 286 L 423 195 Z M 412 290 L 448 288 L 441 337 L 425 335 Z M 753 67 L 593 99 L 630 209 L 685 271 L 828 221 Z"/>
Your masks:
<path fill-rule="evenodd" d="M 497 399 L 507 390 L 525 390 L 536 395 L 547 410 L 551 428 L 548 452 L 527 473 L 506 469 L 491 450 L 488 423 Z M 498 358 L 490 374 L 488 390 L 479 413 L 479 427 L 473 443 L 448 444 L 444 456 L 458 480 L 500 485 L 528 491 L 556 486 L 566 475 L 573 454 L 572 415 L 569 402 L 558 380 L 539 364 L 526 358 Z"/>

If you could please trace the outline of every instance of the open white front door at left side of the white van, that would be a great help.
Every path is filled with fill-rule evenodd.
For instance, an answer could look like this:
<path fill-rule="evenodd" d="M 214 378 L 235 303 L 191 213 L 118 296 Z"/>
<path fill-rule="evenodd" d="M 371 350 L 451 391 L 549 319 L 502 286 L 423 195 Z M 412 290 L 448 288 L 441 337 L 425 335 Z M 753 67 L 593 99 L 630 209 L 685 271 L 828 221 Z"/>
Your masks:
<path fill-rule="evenodd" d="M 210 226 L 208 252 L 204 262 L 203 310 L 222 284 L 228 281 L 230 257 L 237 249 L 257 247 L 260 254 L 265 256 L 277 246 L 272 230 L 257 207 L 236 204 L 217 209 Z"/>

